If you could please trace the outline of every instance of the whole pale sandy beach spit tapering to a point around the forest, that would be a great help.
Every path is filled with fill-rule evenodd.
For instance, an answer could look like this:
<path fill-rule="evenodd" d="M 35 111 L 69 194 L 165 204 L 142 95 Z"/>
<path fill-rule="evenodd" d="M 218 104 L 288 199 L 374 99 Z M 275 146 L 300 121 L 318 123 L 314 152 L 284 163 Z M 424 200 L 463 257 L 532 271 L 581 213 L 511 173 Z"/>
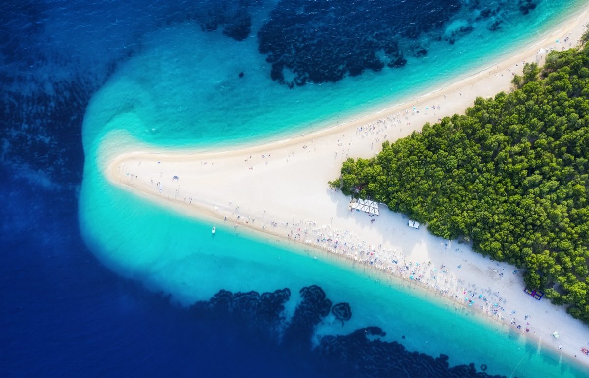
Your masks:
<path fill-rule="evenodd" d="M 511 327 L 542 346 L 589 366 L 589 329 L 562 307 L 524 293 L 521 272 L 434 237 L 380 205 L 380 215 L 350 210 L 350 197 L 329 190 L 348 157 L 370 157 L 425 122 L 462 114 L 475 97 L 509 91 L 524 62 L 575 46 L 588 12 L 575 15 L 533 44 L 471 77 L 378 114 L 288 140 L 233 151 L 132 151 L 108 162 L 105 175 L 167 207 L 236 233 L 264 233 L 282 244 L 300 243 L 411 281 Z M 558 42 L 557 42 L 558 40 Z M 325 252 L 324 252 L 325 253 Z M 462 307 L 459 307 L 462 309 Z M 558 332 L 560 337 L 553 336 Z"/>

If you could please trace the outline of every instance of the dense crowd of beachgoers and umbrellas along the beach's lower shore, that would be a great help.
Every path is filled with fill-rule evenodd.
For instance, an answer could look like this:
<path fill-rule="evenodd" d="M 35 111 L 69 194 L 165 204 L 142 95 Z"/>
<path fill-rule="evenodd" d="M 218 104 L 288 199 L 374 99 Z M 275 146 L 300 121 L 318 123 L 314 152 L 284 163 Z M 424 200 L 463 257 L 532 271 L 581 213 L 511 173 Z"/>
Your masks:
<path fill-rule="evenodd" d="M 352 211 L 355 216 L 370 217 L 369 214 L 361 211 L 353 209 Z M 251 223 L 252 218 L 234 213 L 231 221 L 237 221 L 233 226 L 237 229 L 240 226 L 239 223 Z M 258 223 L 260 224 L 260 221 Z M 516 310 L 510 309 L 507 299 L 501 296 L 499 290 L 494 290 L 491 287 L 479 287 L 475 282 L 468 282 L 458 278 L 453 271 L 461 269 L 462 263 L 456 266 L 446 266 L 443 263 L 436 265 L 432 261 L 413 261 L 398 248 L 386 248 L 382 244 L 370 244 L 369 241 L 353 231 L 332 227 L 330 224 L 318 225 L 316 221 L 270 220 L 269 222 L 263 221 L 263 223 L 262 228 L 264 230 L 269 231 L 270 228 L 270 232 L 277 236 L 286 236 L 289 240 L 296 241 L 304 246 L 319 248 L 337 257 L 401 278 L 408 281 L 409 284 L 434 291 L 436 294 L 454 301 L 456 309 L 459 309 L 458 306 L 475 309 L 485 316 L 506 324 L 509 321 L 508 324 L 514 330 L 519 330 L 522 333 L 535 333 L 530 324 L 531 315 L 519 314 Z M 395 231 L 393 230 L 393 232 Z M 401 232 L 399 230 L 399 233 Z M 446 241 L 444 244 L 445 250 L 450 245 L 451 241 Z M 312 249 L 307 251 L 313 254 Z M 461 250 L 455 248 L 455 251 L 460 252 Z M 316 253 L 313 254 L 313 257 L 317 258 Z M 464 260 L 464 263 L 468 264 L 468 261 Z M 481 270 L 480 267 L 472 263 L 469 264 L 469 267 Z M 497 268 L 499 269 L 499 267 Z M 495 271 L 498 277 L 503 277 L 505 274 L 505 271 Z M 517 273 L 519 272 L 516 269 L 509 271 L 509 274 Z"/>

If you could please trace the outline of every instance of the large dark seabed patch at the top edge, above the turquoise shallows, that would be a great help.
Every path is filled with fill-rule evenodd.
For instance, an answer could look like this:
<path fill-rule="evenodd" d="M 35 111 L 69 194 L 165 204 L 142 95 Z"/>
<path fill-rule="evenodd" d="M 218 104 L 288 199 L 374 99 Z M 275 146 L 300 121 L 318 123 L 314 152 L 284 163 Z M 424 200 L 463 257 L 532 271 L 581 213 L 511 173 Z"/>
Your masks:
<path fill-rule="evenodd" d="M 258 32 L 259 51 L 272 64 L 273 80 L 293 88 L 336 82 L 366 70 L 403 67 L 406 57 L 428 55 L 427 41 L 449 44 L 482 22 L 496 31 L 501 2 L 439 0 L 282 0 Z M 528 14 L 532 0 L 520 0 Z M 457 17 L 464 25 L 446 31 Z M 491 19 L 493 18 L 493 19 Z"/>

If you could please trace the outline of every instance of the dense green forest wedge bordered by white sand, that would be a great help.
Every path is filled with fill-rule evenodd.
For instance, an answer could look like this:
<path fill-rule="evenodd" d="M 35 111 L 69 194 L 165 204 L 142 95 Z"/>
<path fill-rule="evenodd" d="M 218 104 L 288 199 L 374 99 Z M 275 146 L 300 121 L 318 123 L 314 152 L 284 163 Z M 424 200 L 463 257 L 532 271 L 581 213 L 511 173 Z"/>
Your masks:
<path fill-rule="evenodd" d="M 525 65 L 511 93 L 348 158 L 329 184 L 472 241 L 589 324 L 588 68 L 589 44 L 552 51 L 542 71 Z"/>

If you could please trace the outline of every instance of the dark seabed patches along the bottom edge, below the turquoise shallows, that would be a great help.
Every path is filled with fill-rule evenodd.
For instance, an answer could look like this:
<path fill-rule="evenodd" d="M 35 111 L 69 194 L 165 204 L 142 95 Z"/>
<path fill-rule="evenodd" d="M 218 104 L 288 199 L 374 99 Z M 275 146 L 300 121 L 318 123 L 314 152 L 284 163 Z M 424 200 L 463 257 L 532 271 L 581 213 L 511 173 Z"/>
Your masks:
<path fill-rule="evenodd" d="M 383 341 L 386 333 L 378 327 L 358 329 L 343 336 L 323 336 L 312 347 L 315 327 L 333 314 L 336 320 L 349 320 L 352 309 L 348 303 L 327 298 L 316 285 L 300 290 L 300 302 L 290 319 L 284 314 L 284 304 L 290 299 L 289 289 L 273 293 L 231 293 L 221 290 L 209 301 L 199 301 L 188 311 L 195 317 L 216 319 L 252 333 L 255 340 L 266 340 L 283 349 L 297 353 L 325 376 L 340 377 L 504 377 L 484 372 L 487 365 L 473 363 L 450 367 L 448 356 L 429 356 L 409 352 L 396 341 Z"/>

